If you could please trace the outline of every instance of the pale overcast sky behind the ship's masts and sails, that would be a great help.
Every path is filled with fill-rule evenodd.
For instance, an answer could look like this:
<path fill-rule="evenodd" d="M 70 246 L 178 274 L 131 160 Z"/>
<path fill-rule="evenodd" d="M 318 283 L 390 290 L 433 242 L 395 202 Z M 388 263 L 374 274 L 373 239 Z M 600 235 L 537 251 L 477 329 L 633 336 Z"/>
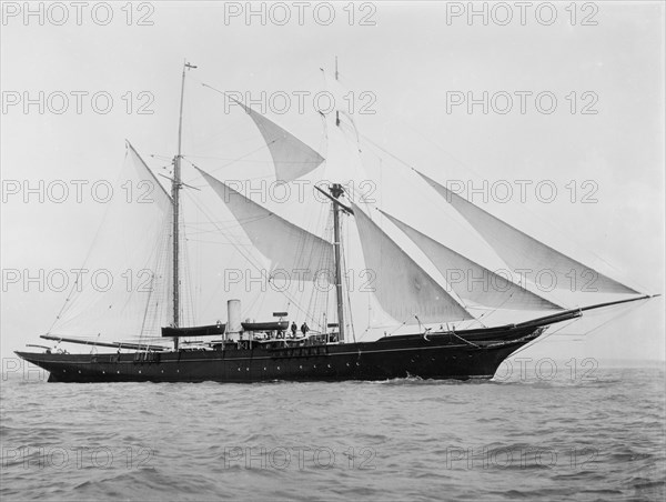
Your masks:
<path fill-rule="evenodd" d="M 302 12 L 297 2 L 254 3 L 248 17 L 245 2 L 90 2 L 81 11 L 68 2 L 34 3 L 28 16 L 23 2 L 3 2 L 2 357 L 36 343 L 58 315 L 67 293 L 49 284 L 40 291 L 40 280 L 24 279 L 84 262 L 112 205 L 95 200 L 90 187 L 119 180 L 125 139 L 155 172 L 169 173 L 185 59 L 198 68 L 188 74 L 183 154 L 213 175 L 256 180 L 270 167 L 252 121 L 202 83 L 258 106 L 265 92 L 266 116 L 324 151 L 312 97 L 331 84 L 337 57 L 340 82 L 353 92 L 344 104 L 354 104 L 350 114 L 363 138 L 381 147 L 362 155 L 379 207 L 467 247 L 478 260 L 496 259 L 454 212 L 437 212 L 442 201 L 407 163 L 442 183 L 462 183 L 463 195 L 602 273 L 663 293 L 664 6 L 542 3 L 522 11 L 519 2 L 478 2 L 472 17 L 467 2 L 306 2 Z M 305 92 L 299 110 L 294 97 Z M 292 101 L 281 113 L 284 94 Z M 191 165 L 183 169 L 183 179 L 201 190 L 186 197 L 229 219 Z M 27 194 L 26 183 L 36 191 Z M 62 184 L 70 191 L 58 201 Z M 506 185 L 511 197 L 491 190 Z M 127 195 L 114 187 L 112 203 Z M 281 210 L 305 227 L 321 217 Z M 133 235 L 139 219 L 123 214 L 125 237 Z M 201 214 L 191 214 L 192 228 L 205 227 Z M 145 235 L 159 230 L 141 224 Z M 122 225 L 119 232 L 103 251 L 131 257 L 120 244 Z M 231 247 L 211 239 L 215 244 L 191 254 L 193 275 L 209 285 L 225 267 L 242 267 Z M 206 291 L 194 299 L 210 310 Z M 221 313 L 200 309 L 202 322 L 224 315 L 224 294 L 215 291 Z M 622 315 L 574 324 L 565 330 L 571 337 L 553 337 L 528 353 L 664 359 L 663 298 L 615 313 Z M 605 324 L 579 337 L 593 321 Z"/>

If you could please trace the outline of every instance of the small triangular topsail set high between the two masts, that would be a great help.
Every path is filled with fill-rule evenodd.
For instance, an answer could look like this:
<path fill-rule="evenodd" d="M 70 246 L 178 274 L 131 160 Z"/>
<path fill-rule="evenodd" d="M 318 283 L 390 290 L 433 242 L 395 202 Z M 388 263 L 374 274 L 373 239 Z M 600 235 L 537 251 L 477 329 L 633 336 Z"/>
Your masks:
<path fill-rule="evenodd" d="M 315 170 L 324 161 L 316 151 L 275 122 L 240 101 L 230 99 L 243 107 L 259 128 L 273 158 L 278 181 L 293 181 Z"/>

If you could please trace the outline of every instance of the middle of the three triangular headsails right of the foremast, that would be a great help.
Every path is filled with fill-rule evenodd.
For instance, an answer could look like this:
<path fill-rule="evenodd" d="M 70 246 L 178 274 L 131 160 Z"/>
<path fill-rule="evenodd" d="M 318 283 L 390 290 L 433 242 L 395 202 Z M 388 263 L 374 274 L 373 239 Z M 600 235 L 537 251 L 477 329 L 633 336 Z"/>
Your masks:
<path fill-rule="evenodd" d="M 463 300 L 509 310 L 562 310 L 559 305 L 463 257 L 418 230 L 382 211 L 427 255 Z"/>

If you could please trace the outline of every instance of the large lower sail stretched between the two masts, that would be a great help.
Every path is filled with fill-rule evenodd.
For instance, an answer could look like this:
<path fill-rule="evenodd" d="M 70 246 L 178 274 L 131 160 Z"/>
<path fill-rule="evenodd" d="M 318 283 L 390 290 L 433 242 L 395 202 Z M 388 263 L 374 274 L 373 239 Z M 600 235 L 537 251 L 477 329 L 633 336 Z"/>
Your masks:
<path fill-rule="evenodd" d="M 333 244 L 198 170 L 224 201 L 252 244 L 271 261 L 271 273 L 280 270 L 296 281 L 317 281 L 332 277 Z"/>

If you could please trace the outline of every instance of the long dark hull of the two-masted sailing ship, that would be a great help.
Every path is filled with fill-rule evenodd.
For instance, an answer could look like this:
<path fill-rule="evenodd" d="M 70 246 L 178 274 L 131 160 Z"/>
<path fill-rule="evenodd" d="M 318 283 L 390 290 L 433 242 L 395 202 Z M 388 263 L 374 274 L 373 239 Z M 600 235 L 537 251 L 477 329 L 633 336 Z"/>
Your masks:
<path fill-rule="evenodd" d="M 502 361 L 543 330 L 504 327 L 365 343 L 272 348 L 255 343 L 252 349 L 206 351 L 17 354 L 49 371 L 50 382 L 467 380 L 492 378 Z"/>

